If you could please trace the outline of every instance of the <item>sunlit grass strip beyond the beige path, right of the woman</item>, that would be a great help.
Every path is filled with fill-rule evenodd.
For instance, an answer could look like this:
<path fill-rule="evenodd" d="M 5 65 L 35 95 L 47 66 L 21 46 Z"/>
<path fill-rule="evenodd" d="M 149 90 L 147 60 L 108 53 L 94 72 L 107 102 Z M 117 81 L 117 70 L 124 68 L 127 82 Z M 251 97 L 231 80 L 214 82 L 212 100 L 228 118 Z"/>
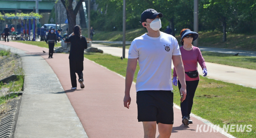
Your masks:
<path fill-rule="evenodd" d="M 256 70 L 256 57 L 233 56 L 231 54 L 201 51 L 206 62 L 231 65 Z"/>

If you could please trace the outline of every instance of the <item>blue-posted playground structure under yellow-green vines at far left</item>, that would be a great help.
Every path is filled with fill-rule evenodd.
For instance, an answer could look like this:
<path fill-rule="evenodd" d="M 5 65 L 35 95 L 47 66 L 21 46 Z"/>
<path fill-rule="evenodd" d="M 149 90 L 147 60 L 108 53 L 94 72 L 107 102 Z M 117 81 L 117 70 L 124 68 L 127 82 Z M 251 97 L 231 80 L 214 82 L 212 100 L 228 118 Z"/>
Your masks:
<path fill-rule="evenodd" d="M 21 26 L 21 40 L 28 40 L 31 41 L 31 36 L 32 36 L 32 41 L 36 40 L 36 21 L 40 19 L 40 16 L 1 16 L 2 19 L 5 20 L 6 24 L 6 19 L 14 19 L 15 24 L 14 27 L 15 29 L 17 28 L 17 20 L 18 24 Z M 31 20 L 33 22 L 32 24 L 32 29 L 31 29 Z M 28 25 L 27 25 L 28 22 Z M 40 23 L 41 26 L 41 23 Z M 24 31 L 23 31 L 24 28 Z M 31 30 L 32 30 L 32 35 L 31 35 Z M 24 33 L 23 33 L 24 32 Z M 12 40 L 17 40 L 17 33 L 14 32 L 11 37 Z"/>

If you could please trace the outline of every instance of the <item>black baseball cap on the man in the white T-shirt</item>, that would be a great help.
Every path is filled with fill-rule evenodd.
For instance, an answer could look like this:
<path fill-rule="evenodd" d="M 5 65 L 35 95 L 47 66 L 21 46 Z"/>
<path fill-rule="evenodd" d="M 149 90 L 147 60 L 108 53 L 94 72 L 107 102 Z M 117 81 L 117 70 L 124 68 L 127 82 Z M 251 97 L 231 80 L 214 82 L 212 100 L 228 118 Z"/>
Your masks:
<path fill-rule="evenodd" d="M 160 18 L 163 17 L 163 13 L 158 13 L 154 9 L 146 9 L 140 16 L 140 23 L 144 22 L 146 19 L 154 19 L 157 15 L 159 15 Z"/>

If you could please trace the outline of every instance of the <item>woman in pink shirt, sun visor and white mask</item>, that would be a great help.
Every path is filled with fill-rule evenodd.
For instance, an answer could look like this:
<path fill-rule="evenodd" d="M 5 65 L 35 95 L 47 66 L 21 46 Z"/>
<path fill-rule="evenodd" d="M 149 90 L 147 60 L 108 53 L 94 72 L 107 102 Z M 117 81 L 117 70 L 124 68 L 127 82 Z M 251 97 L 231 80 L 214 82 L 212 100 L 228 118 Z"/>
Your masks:
<path fill-rule="evenodd" d="M 186 85 L 187 85 L 187 95 L 186 99 L 181 102 L 181 114 L 182 114 L 182 123 L 184 125 L 189 125 L 192 122 L 190 120 L 190 113 L 193 105 L 193 98 L 197 85 L 199 82 L 199 75 L 197 72 L 197 62 L 200 64 L 203 69 L 204 77 L 207 75 L 207 69 L 204 62 L 204 58 L 201 54 L 201 51 L 198 47 L 192 45 L 192 42 L 198 38 L 198 33 L 191 31 L 190 29 L 182 29 L 180 32 L 181 44 L 180 52 L 181 58 L 184 65 Z M 180 81 L 177 81 L 177 74 L 174 68 L 173 71 L 173 80 L 172 84 L 181 88 Z"/>

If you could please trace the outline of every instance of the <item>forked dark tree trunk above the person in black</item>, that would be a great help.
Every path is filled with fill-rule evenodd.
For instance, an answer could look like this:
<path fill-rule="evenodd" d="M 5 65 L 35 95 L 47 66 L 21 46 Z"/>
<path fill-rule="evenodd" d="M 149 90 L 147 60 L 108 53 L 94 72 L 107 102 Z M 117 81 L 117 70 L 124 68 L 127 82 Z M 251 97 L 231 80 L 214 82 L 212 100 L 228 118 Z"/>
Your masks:
<path fill-rule="evenodd" d="M 84 0 L 77 0 L 77 1 L 78 3 L 76 4 L 75 9 L 73 9 L 73 6 L 72 6 L 73 0 L 61 0 L 61 3 L 66 9 L 67 21 L 69 22 L 68 34 L 72 33 L 73 27 L 76 25 L 76 15 Z M 58 2 L 58 0 L 56 0 L 56 2 Z"/>

